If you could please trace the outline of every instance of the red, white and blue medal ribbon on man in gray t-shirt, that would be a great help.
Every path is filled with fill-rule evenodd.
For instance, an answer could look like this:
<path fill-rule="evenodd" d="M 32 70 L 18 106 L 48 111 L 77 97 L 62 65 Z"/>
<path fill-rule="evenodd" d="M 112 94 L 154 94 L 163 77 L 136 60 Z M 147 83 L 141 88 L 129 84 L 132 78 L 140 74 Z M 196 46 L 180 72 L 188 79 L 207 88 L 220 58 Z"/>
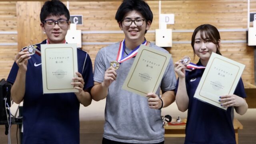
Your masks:
<path fill-rule="evenodd" d="M 145 40 L 142 44 L 146 46 L 147 43 L 148 43 L 147 40 Z M 126 61 L 126 60 L 128 60 L 130 58 L 133 58 L 134 56 L 137 55 L 139 48 L 140 48 L 140 45 L 137 46 L 136 48 L 134 48 L 134 50 L 132 50 L 132 52 L 130 52 L 127 56 L 123 57 L 124 50 L 125 50 L 125 39 L 122 40 L 120 42 L 120 46 L 119 46 L 119 50 L 118 50 L 116 61 L 119 62 L 119 63 L 122 63 L 122 62 L 124 62 L 124 61 Z"/>

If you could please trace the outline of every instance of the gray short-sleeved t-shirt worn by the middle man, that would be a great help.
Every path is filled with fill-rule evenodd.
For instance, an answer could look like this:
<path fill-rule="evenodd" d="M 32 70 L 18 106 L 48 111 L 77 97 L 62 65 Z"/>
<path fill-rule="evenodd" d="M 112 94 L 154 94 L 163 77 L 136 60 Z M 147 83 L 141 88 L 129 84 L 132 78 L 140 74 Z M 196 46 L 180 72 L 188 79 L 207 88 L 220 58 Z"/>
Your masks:
<path fill-rule="evenodd" d="M 116 60 L 120 42 L 102 48 L 94 63 L 94 81 L 102 83 L 110 62 Z M 150 43 L 150 47 L 168 53 L 163 48 Z M 126 48 L 129 54 L 132 50 Z M 124 53 L 124 56 L 127 54 Z M 135 57 L 134 57 L 135 58 Z M 122 85 L 134 62 L 130 58 L 120 64 L 116 70 L 117 78 L 108 87 L 105 108 L 105 125 L 103 137 L 108 140 L 126 143 L 152 144 L 164 141 L 161 110 L 148 107 L 146 97 L 122 89 Z M 162 91 L 174 90 L 176 77 L 172 58 L 160 84 Z M 160 96 L 160 87 L 156 94 Z"/>

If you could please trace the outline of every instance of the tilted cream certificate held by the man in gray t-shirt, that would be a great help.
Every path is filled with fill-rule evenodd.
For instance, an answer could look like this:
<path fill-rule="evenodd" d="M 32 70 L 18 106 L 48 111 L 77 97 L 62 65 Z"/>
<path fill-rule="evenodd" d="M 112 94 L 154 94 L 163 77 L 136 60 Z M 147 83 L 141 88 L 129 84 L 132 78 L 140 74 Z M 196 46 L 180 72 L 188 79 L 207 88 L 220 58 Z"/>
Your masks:
<path fill-rule="evenodd" d="M 170 57 L 171 54 L 140 45 L 122 88 L 141 96 L 156 93 Z"/>

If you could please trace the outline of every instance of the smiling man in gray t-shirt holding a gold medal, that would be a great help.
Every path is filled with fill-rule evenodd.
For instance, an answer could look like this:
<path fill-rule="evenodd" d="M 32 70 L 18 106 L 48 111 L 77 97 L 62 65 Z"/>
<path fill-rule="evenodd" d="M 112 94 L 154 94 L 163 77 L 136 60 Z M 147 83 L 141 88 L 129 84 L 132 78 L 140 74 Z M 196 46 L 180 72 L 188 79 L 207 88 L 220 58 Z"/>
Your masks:
<path fill-rule="evenodd" d="M 164 143 L 160 109 L 175 100 L 176 77 L 172 58 L 156 94 L 143 97 L 122 89 L 140 44 L 168 53 L 144 37 L 152 19 L 153 14 L 144 0 L 124 0 L 116 12 L 116 20 L 125 39 L 102 48 L 96 56 L 92 98 L 96 101 L 107 99 L 102 144 Z M 114 60 L 120 63 L 117 70 L 110 66 Z"/>

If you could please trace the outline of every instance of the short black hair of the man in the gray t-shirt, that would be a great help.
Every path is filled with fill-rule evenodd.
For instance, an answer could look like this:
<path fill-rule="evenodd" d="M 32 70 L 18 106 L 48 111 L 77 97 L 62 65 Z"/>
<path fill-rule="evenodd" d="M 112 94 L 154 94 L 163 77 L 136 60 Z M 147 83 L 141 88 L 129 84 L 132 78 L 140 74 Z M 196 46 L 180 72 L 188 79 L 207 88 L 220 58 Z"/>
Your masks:
<path fill-rule="evenodd" d="M 144 0 L 123 0 L 116 12 L 117 22 L 122 22 L 126 13 L 136 10 L 142 14 L 142 16 L 148 21 L 152 22 L 153 13 L 150 7 Z"/>

